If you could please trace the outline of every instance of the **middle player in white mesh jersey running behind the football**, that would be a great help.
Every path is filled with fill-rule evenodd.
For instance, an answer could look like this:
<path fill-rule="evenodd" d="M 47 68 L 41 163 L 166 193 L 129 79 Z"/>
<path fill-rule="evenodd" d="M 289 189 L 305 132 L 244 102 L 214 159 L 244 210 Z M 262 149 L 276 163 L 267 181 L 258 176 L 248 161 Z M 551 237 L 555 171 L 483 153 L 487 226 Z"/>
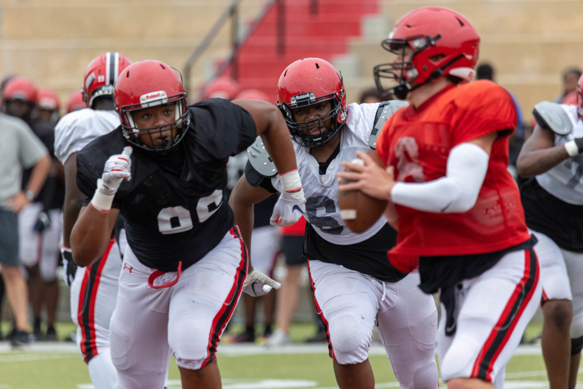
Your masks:
<path fill-rule="evenodd" d="M 340 389 L 374 388 L 368 349 L 375 325 L 401 388 L 438 387 L 433 297 L 417 287 L 417 272 L 408 275 L 387 261 L 385 253 L 394 244 L 395 231 L 386 219 L 354 233 L 338 207 L 340 162 L 354 159 L 359 150 L 373 149 L 384 120 L 403 105 L 386 101 L 346 106 L 342 78 L 320 58 L 293 62 L 278 82 L 278 106 L 296 141 L 307 200 L 304 255 Z M 245 176 L 230 198 L 245 241 L 250 241 L 252 204 L 285 189 L 276 179 L 275 167 L 267 163 L 261 139 L 248 155 Z M 293 204 L 289 209 L 292 213 Z"/>

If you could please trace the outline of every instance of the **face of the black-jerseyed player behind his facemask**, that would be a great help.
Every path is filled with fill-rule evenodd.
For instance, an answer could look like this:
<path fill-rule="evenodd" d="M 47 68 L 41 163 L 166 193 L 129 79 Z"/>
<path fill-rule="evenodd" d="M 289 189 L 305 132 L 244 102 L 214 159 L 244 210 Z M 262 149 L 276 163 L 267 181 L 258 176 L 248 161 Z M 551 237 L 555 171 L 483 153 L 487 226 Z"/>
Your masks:
<path fill-rule="evenodd" d="M 176 119 L 176 104 L 166 104 L 135 111 L 134 122 L 139 129 L 138 141 L 146 146 L 161 146 L 177 135 L 171 123 Z M 154 130 L 154 131 L 153 131 Z"/>

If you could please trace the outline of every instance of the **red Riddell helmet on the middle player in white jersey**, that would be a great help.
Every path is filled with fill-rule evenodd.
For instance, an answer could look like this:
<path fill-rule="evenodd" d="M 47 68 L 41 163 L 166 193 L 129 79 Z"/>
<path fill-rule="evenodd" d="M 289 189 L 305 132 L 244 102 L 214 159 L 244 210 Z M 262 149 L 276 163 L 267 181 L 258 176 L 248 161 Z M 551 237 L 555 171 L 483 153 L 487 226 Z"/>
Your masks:
<path fill-rule="evenodd" d="M 292 109 L 331 101 L 332 109 L 314 120 L 297 122 Z M 346 122 L 346 95 L 342 75 L 328 61 L 321 58 L 304 58 L 293 62 L 283 71 L 278 82 L 278 107 L 286 118 L 291 138 L 304 147 L 324 145 L 332 139 Z M 331 129 L 310 135 L 308 128 L 335 118 Z M 304 131 L 305 130 L 305 131 Z"/>

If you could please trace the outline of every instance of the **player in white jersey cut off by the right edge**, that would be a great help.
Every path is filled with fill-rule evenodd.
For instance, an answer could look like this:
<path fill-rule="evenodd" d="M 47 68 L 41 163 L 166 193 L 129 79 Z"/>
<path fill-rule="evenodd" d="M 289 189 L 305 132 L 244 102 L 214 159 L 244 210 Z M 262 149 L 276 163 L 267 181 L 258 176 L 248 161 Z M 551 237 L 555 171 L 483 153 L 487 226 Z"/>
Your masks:
<path fill-rule="evenodd" d="M 583 347 L 583 76 L 575 105 L 543 101 L 517 169 L 526 225 L 538 239 L 543 357 L 552 388 L 574 388 Z"/>

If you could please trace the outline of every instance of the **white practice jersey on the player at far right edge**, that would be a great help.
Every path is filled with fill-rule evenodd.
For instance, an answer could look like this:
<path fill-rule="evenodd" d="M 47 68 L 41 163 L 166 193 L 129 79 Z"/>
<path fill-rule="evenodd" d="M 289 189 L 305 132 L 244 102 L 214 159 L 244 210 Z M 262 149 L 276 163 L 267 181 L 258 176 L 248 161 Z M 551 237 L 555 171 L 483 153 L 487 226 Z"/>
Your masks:
<path fill-rule="evenodd" d="M 554 134 L 554 145 L 563 145 L 583 137 L 583 121 L 577 115 L 577 106 L 561 104 L 573 124 L 567 135 Z M 583 205 L 583 155 L 568 158 L 543 174 L 536 176 L 539 185 L 554 197 L 573 205 Z"/>

